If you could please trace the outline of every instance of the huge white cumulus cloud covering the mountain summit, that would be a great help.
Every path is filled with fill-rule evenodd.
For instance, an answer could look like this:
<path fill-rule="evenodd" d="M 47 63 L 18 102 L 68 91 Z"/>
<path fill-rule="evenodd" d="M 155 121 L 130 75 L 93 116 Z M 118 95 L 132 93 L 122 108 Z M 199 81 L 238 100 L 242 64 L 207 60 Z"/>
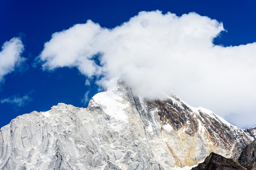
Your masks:
<path fill-rule="evenodd" d="M 239 127 L 255 126 L 256 43 L 213 44 L 221 31 L 222 23 L 196 13 L 143 11 L 112 29 L 88 20 L 54 33 L 39 58 L 44 69 L 77 67 L 89 79 L 98 77 L 99 85 L 123 80 L 145 97 L 173 90 L 224 118 L 250 117 L 229 119 Z"/>

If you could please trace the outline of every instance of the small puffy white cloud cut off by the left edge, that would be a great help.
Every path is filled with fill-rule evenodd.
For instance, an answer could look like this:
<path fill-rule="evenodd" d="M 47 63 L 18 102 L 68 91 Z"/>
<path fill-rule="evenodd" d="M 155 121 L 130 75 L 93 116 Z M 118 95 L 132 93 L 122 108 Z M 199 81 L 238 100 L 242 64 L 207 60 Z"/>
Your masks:
<path fill-rule="evenodd" d="M 25 60 L 20 56 L 23 50 L 24 46 L 17 37 L 2 45 L 2 51 L 0 51 L 0 82 L 5 75 L 14 71 L 14 68 Z"/>

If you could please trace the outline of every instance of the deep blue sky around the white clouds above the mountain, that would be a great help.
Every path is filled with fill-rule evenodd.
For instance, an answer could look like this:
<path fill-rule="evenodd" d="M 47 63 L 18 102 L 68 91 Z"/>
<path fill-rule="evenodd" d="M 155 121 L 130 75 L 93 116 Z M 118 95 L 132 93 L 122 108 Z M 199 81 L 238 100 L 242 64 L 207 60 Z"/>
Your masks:
<path fill-rule="evenodd" d="M 44 50 L 45 42 L 51 40 L 53 33 L 69 29 L 75 24 L 85 24 L 88 19 L 103 28 L 114 28 L 129 21 L 140 11 L 158 9 L 163 14 L 171 12 L 177 16 L 196 12 L 223 23 L 226 31 L 214 39 L 214 44 L 228 47 L 256 42 L 255 0 L 2 0 L 0 3 L 0 45 L 13 37 L 19 37 L 24 45 L 21 57 L 25 58 L 0 82 L 0 127 L 21 114 L 33 110 L 46 111 L 59 102 L 77 107 L 87 106 L 85 94 L 91 98 L 98 92 L 99 87 L 94 81 L 97 77 L 92 76 L 90 85 L 85 85 L 88 76 L 76 67 L 43 70 L 41 63 L 35 63 L 35 59 Z M 243 88 L 238 87 L 237 91 Z M 177 94 L 182 98 L 183 94 Z M 219 111 L 211 108 L 214 103 L 188 103 L 206 107 L 217 114 Z M 253 112 L 254 108 L 250 110 Z M 219 115 L 238 127 L 256 126 L 256 122 L 239 124 L 238 120 L 232 118 L 237 114 Z M 247 119 L 241 121 L 246 122 Z"/>

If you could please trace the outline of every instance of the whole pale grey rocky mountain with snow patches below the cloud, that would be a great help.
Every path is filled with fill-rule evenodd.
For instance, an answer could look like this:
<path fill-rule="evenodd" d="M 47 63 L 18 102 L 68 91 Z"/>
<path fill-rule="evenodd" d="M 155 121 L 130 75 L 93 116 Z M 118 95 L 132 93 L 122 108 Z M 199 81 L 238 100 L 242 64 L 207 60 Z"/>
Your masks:
<path fill-rule="evenodd" d="M 86 109 L 59 103 L 13 119 L 0 129 L 0 169 L 189 170 L 212 152 L 237 159 L 255 134 L 175 95 L 147 99 L 119 84 Z"/>

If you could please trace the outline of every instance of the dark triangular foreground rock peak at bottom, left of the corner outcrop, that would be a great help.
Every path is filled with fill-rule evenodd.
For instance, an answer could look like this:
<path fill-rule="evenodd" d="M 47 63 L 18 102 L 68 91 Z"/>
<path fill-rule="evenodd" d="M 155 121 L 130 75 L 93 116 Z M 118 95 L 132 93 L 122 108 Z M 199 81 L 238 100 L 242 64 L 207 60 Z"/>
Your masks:
<path fill-rule="evenodd" d="M 191 170 L 246 170 L 239 163 L 216 153 L 210 153 L 204 162 Z"/>

